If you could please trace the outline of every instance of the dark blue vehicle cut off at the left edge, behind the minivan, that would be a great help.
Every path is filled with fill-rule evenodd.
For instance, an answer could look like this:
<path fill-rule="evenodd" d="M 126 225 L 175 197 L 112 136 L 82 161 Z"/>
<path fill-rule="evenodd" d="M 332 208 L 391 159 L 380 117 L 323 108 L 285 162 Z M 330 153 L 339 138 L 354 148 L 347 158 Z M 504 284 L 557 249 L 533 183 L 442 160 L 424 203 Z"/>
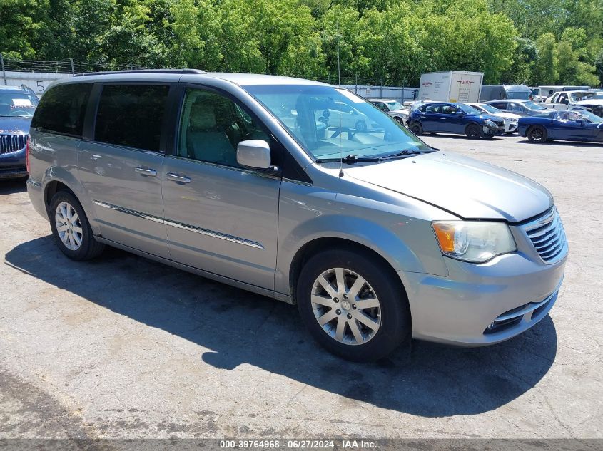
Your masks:
<path fill-rule="evenodd" d="M 0 86 L 0 179 L 26 177 L 25 148 L 38 98 L 24 86 Z"/>

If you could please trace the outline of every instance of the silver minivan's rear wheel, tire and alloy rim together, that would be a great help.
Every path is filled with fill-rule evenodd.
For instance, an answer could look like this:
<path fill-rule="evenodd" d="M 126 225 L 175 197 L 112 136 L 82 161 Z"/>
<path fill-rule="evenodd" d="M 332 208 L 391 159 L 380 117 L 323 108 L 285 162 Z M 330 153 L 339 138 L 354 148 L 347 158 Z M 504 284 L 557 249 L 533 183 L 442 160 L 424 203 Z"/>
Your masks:
<path fill-rule="evenodd" d="M 105 245 L 94 239 L 83 208 L 70 192 L 59 191 L 52 197 L 49 219 L 54 241 L 70 259 L 89 260 L 103 252 Z"/>

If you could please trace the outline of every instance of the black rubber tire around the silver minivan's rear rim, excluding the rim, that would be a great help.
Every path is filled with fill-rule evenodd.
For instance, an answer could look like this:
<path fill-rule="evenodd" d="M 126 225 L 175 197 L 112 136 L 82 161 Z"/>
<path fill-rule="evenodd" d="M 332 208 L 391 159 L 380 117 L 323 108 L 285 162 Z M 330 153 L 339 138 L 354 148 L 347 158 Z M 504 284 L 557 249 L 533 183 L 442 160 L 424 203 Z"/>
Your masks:
<path fill-rule="evenodd" d="M 61 239 L 61 236 L 59 236 L 56 214 L 57 209 L 59 209 L 59 205 L 61 204 L 71 205 L 78 216 L 78 221 L 75 225 L 78 227 L 78 229 L 81 229 L 81 244 L 79 244 L 77 249 L 69 249 L 69 247 L 67 247 L 67 245 Z M 61 252 L 63 252 L 70 259 L 76 261 L 93 259 L 94 257 L 100 255 L 103 252 L 103 249 L 105 249 L 105 245 L 97 242 L 94 238 L 94 234 L 90 227 L 90 223 L 88 222 L 88 217 L 86 217 L 86 213 L 83 212 L 83 208 L 78 202 L 78 199 L 76 199 L 76 197 L 70 192 L 59 191 L 52 197 L 49 204 L 49 219 L 50 227 L 52 229 L 52 236 L 54 237 L 56 245 L 59 247 L 59 249 L 61 249 Z M 73 227 L 73 229 L 75 230 L 75 227 Z"/>

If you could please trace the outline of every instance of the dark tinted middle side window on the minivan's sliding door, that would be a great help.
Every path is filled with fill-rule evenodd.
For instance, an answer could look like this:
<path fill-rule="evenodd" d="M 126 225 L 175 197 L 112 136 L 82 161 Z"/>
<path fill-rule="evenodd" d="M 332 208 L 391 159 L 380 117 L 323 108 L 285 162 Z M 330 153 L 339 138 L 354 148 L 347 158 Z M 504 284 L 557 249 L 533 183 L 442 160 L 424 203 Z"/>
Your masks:
<path fill-rule="evenodd" d="M 168 85 L 104 85 L 94 140 L 159 151 Z"/>

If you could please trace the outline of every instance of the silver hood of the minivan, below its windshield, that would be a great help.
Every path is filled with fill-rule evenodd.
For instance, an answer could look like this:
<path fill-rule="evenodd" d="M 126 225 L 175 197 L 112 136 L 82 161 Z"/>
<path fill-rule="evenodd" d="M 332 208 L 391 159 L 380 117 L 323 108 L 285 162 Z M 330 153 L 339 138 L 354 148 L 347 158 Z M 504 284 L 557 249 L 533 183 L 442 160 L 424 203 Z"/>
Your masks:
<path fill-rule="evenodd" d="M 464 219 L 520 222 L 553 204 L 551 194 L 537 182 L 449 152 L 350 167 L 346 175 L 420 199 Z"/>

